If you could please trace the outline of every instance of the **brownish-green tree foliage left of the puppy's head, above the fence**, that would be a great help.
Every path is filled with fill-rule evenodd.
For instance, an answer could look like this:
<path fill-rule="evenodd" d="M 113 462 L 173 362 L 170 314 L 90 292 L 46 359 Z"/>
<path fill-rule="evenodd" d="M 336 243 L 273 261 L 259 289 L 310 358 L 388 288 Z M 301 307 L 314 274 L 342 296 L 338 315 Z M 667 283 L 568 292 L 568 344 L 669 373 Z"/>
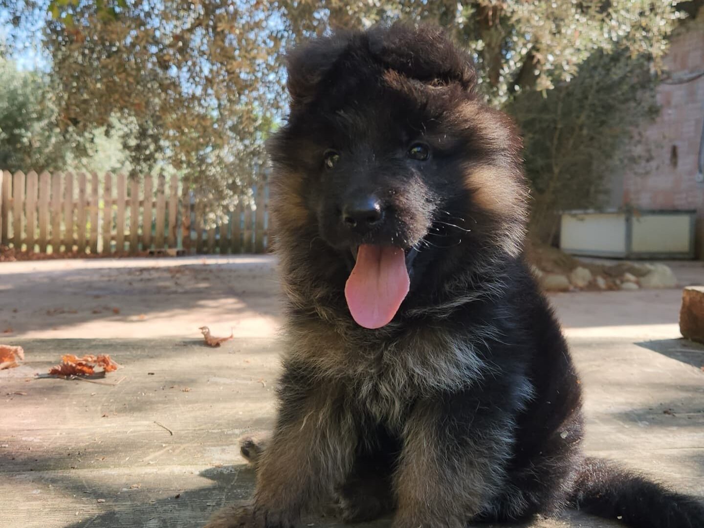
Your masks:
<path fill-rule="evenodd" d="M 268 2 L 27 0 L 18 11 L 40 6 L 62 130 L 120 123 L 133 177 L 175 170 L 213 206 L 256 180 L 285 103 Z"/>

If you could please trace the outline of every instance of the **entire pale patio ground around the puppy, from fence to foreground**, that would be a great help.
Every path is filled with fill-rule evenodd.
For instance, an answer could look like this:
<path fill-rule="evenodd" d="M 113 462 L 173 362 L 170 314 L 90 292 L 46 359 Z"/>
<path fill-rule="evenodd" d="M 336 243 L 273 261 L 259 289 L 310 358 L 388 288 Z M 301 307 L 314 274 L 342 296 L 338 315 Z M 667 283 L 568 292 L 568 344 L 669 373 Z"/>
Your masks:
<path fill-rule="evenodd" d="M 233 257 L 0 266 L 0 332 L 11 328 L 0 342 L 26 353 L 0 371 L 0 526 L 190 528 L 246 503 L 253 472 L 237 439 L 274 413 L 273 268 Z M 704 346 L 678 339 L 679 296 L 553 303 L 586 394 L 586 451 L 704 496 Z M 208 348 L 200 325 L 236 338 Z M 100 383 L 35 376 L 63 353 L 109 353 L 122 368 Z M 570 513 L 530 526 L 617 524 Z"/>

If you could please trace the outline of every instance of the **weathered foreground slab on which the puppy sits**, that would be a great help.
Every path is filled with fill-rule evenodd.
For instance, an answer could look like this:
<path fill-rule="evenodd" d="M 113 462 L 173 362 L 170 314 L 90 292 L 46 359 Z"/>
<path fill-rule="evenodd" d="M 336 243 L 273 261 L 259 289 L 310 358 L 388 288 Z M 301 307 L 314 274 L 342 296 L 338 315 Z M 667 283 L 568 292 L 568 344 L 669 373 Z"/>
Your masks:
<path fill-rule="evenodd" d="M 704 346 L 633 335 L 570 341 L 586 391 L 586 451 L 704 496 Z M 220 506 L 248 501 L 253 472 L 237 439 L 272 422 L 274 339 L 13 344 L 27 362 L 0 371 L 0 526 L 195 528 Z M 63 353 L 110 353 L 123 367 L 103 381 L 122 381 L 35 379 Z M 617 524 L 573 513 L 530 526 Z"/>

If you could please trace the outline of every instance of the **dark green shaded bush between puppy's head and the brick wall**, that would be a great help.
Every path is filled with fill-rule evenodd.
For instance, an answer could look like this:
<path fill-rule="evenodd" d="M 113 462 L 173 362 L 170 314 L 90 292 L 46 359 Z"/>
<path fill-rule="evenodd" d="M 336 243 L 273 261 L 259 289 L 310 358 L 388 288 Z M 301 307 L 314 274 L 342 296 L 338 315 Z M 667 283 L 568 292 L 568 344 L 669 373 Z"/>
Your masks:
<path fill-rule="evenodd" d="M 533 232 L 549 241 L 555 213 L 598 208 L 610 175 L 631 163 L 631 132 L 658 113 L 645 58 L 597 51 L 570 82 L 524 92 L 506 106 L 522 129 L 533 197 Z"/>

